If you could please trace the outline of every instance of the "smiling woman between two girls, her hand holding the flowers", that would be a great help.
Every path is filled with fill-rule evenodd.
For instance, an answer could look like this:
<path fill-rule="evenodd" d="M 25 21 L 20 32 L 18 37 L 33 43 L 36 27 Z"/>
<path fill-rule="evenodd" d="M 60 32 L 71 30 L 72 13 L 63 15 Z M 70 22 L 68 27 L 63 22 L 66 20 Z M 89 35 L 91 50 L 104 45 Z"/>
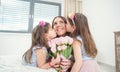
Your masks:
<path fill-rule="evenodd" d="M 53 19 L 52 28 L 55 30 L 58 37 L 69 34 L 66 32 L 66 24 L 67 21 L 62 16 L 57 16 Z M 68 69 L 71 67 L 71 61 L 68 59 L 63 59 L 61 64 L 62 64 L 62 72 L 66 72 L 66 71 L 69 72 Z M 58 65 L 55 65 L 55 67 L 57 68 Z"/>

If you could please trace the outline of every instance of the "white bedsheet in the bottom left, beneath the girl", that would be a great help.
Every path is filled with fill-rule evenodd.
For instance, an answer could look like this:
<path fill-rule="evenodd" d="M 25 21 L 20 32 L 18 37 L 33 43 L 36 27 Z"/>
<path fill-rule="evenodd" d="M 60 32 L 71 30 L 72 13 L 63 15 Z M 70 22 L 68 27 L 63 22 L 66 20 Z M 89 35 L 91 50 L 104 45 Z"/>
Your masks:
<path fill-rule="evenodd" d="M 57 72 L 54 69 L 40 69 L 21 64 L 21 57 L 17 55 L 0 56 L 0 72 Z"/>

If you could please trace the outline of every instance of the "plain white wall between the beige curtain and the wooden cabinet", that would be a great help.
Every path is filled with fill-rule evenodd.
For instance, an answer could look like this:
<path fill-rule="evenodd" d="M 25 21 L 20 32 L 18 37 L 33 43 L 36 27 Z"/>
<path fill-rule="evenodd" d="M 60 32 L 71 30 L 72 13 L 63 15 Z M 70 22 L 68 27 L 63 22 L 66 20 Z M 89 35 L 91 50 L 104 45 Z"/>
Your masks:
<path fill-rule="evenodd" d="M 83 13 L 98 48 L 97 60 L 115 66 L 114 32 L 120 31 L 120 0 L 83 0 Z"/>

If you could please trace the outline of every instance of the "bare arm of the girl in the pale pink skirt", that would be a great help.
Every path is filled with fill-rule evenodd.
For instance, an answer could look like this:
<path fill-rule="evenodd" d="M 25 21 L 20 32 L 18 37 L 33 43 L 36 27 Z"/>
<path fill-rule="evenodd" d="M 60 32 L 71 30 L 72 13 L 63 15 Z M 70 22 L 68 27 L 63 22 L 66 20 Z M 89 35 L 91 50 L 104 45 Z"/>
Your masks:
<path fill-rule="evenodd" d="M 81 42 L 74 40 L 73 42 L 73 53 L 75 62 L 73 63 L 71 72 L 79 72 L 82 65 L 82 53 L 81 53 Z"/>

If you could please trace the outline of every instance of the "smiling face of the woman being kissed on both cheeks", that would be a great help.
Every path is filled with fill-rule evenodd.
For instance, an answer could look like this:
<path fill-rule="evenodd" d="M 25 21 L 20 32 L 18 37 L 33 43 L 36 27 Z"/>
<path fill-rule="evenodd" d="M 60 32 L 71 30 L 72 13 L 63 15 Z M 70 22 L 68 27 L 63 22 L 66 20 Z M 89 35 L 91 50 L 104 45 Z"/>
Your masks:
<path fill-rule="evenodd" d="M 63 19 L 57 17 L 53 22 L 53 29 L 58 36 L 63 36 L 66 34 L 66 24 Z"/>

